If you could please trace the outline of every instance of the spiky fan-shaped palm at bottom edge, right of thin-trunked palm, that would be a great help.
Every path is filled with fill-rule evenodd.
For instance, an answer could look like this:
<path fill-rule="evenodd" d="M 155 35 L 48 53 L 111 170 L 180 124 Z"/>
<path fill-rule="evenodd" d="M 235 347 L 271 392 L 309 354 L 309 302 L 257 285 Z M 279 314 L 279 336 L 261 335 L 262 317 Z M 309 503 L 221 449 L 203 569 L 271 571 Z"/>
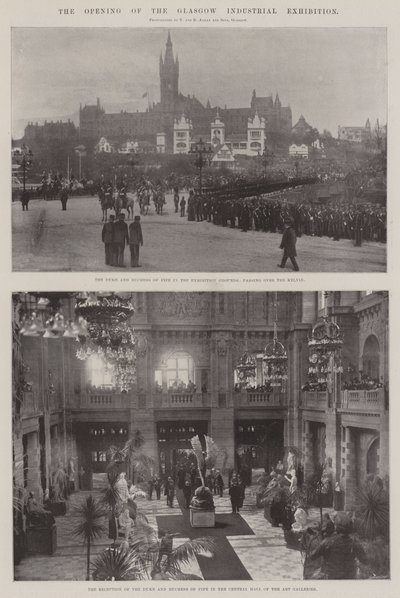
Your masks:
<path fill-rule="evenodd" d="M 100 553 L 92 562 L 93 579 L 98 581 L 124 581 L 141 579 L 131 550 L 111 547 Z"/>

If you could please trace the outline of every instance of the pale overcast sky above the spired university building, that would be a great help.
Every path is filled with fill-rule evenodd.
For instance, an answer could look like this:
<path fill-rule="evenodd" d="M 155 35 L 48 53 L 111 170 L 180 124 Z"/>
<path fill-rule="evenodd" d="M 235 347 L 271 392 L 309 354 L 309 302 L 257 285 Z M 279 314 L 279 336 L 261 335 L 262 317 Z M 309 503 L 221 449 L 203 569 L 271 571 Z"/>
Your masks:
<path fill-rule="evenodd" d="M 320 131 L 386 123 L 386 30 L 171 29 L 179 88 L 204 104 L 248 107 L 278 91 Z M 77 117 L 99 97 L 107 112 L 159 101 L 158 61 L 167 30 L 16 28 L 12 36 L 13 136 L 26 121 Z"/>

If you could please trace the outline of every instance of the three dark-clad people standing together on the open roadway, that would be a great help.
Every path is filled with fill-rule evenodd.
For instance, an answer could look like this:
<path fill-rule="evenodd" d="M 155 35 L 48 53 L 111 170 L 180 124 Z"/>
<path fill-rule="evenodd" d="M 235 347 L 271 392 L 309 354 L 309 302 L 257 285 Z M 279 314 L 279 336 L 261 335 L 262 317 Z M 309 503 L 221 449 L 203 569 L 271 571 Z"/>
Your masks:
<path fill-rule="evenodd" d="M 131 268 L 140 268 L 140 247 L 143 245 L 143 233 L 140 216 L 135 216 L 134 221 L 128 225 L 125 222 L 125 213 L 120 212 L 116 219 L 113 214 L 103 225 L 101 239 L 105 249 L 106 266 L 125 268 L 125 246 L 129 245 L 131 253 Z"/>

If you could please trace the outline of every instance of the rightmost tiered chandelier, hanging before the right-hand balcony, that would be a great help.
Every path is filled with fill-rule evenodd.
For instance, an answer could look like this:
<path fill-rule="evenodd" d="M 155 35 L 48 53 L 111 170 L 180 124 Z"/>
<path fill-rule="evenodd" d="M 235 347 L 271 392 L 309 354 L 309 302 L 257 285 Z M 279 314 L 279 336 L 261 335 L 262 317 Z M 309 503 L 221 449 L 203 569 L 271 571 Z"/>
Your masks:
<path fill-rule="evenodd" d="M 332 389 L 332 375 L 343 372 L 341 348 L 343 336 L 339 326 L 328 316 L 315 324 L 308 340 L 309 386 L 313 390 Z"/>

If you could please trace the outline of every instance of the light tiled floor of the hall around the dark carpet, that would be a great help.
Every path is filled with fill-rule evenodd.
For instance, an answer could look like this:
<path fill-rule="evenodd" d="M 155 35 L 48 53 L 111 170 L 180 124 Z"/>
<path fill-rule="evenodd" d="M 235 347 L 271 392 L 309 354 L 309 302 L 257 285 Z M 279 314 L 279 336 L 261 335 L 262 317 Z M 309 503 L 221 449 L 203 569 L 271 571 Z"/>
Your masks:
<path fill-rule="evenodd" d="M 71 534 L 76 524 L 73 507 L 82 502 L 88 492 L 72 495 L 67 515 L 57 517 L 58 548 L 53 556 L 27 555 L 15 568 L 16 580 L 85 580 L 86 577 L 86 549 Z M 92 494 L 97 495 L 98 490 Z M 281 528 L 272 527 L 264 519 L 262 509 L 255 507 L 254 493 L 249 489 L 241 515 L 253 530 L 250 536 L 227 536 L 232 548 L 241 560 L 253 580 L 301 580 L 301 554 L 297 550 L 287 548 Z M 167 507 L 165 498 L 148 501 L 138 499 L 139 509 L 146 514 L 149 523 L 156 527 L 157 515 L 177 515 L 181 513 L 178 502 L 173 508 Z M 229 497 L 225 493 L 222 498 L 215 498 L 217 513 L 230 513 Z M 311 513 L 312 518 L 316 513 Z M 184 542 L 186 538 L 177 538 L 175 545 Z M 110 544 L 107 537 L 103 537 L 92 548 L 92 557 Z M 186 572 L 201 577 L 197 561 L 185 568 Z"/>

